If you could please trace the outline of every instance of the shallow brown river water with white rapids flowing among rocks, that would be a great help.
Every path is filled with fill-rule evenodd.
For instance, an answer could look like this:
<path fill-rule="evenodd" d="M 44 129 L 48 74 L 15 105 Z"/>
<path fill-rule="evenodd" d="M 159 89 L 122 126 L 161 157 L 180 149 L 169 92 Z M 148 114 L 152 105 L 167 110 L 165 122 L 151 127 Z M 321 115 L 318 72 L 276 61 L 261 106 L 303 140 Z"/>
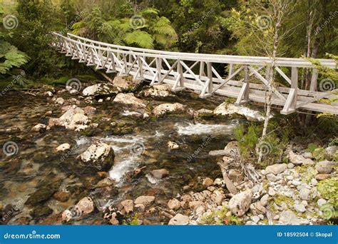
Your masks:
<path fill-rule="evenodd" d="M 219 103 L 185 99 L 185 105 L 195 110 L 205 106 L 213 109 Z M 6 93 L 0 97 L 0 131 L 14 127 L 21 129 L 0 133 L 1 147 L 7 142 L 17 145 L 17 152 L 13 156 L 0 152 L 0 200 L 3 205 L 11 204 L 19 208 L 19 213 L 9 220 L 9 224 L 17 224 L 18 219 L 23 217 L 29 217 L 30 224 L 45 223 L 43 220 L 46 216 L 31 217 L 31 211 L 37 206 L 48 206 L 53 210 L 52 215 L 55 215 L 87 195 L 96 199 L 100 210 L 140 195 L 155 195 L 156 204 L 165 205 L 170 198 L 182 193 L 183 185 L 195 181 L 198 176 L 221 176 L 215 159 L 208 157 L 208 152 L 224 148 L 232 140 L 233 129 L 245 123 L 241 119 L 225 118 L 196 121 L 189 116 L 166 116 L 144 121 L 138 117 L 138 112 L 108 101 L 93 103 L 91 106 L 98 108 L 97 113 L 110 118 L 110 122 L 130 123 L 133 132 L 115 135 L 109 131 L 96 130 L 88 136 L 53 127 L 46 133 L 32 133 L 30 130 L 36 123 L 48 123 L 48 116 L 44 116 L 46 111 L 52 110 L 53 117 L 61 116 L 63 111 L 60 106 L 51 106 L 51 100 L 44 96 L 24 93 Z M 115 153 L 115 164 L 108 172 L 108 176 L 115 181 L 115 193 L 96 189 L 97 178 L 76 169 L 76 157 L 98 140 L 110 145 Z M 175 141 L 180 148 L 170 151 L 168 141 Z M 66 155 L 55 152 L 55 148 L 62 143 L 72 146 Z M 128 173 L 135 168 L 143 168 L 143 173 L 138 177 L 128 177 Z M 160 180 L 153 178 L 150 171 L 160 168 L 167 169 L 169 176 Z M 69 192 L 71 198 L 65 203 L 54 200 L 51 193 L 43 188 L 49 183 L 55 183 L 57 190 Z M 26 204 L 32 194 L 37 199 L 34 204 Z M 76 223 L 93 224 L 101 219 L 102 213 L 96 210 Z M 155 216 L 150 223 L 160 223 L 160 220 Z"/>

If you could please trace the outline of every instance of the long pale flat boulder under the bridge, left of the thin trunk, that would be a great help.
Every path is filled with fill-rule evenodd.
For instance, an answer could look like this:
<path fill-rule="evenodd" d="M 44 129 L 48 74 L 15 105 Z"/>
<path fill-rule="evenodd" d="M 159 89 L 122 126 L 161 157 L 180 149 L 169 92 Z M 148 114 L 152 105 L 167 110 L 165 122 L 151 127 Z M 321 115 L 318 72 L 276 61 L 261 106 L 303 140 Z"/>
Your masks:
<path fill-rule="evenodd" d="M 232 103 L 221 103 L 220 106 L 215 108 L 214 114 L 221 116 L 232 116 L 234 114 L 239 114 L 245 116 L 249 121 L 264 121 L 265 116 L 262 115 L 259 111 L 252 110 L 245 106 L 235 106 Z"/>

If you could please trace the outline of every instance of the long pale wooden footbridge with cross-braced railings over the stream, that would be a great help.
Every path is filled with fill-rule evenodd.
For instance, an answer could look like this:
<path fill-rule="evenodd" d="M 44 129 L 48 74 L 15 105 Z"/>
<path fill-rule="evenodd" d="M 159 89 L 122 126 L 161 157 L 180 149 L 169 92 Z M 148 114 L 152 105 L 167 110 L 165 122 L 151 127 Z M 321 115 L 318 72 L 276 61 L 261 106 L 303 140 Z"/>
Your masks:
<path fill-rule="evenodd" d="M 53 46 L 62 54 L 87 66 L 105 69 L 106 73 L 130 74 L 150 81 L 151 86 L 168 83 L 173 91 L 190 88 L 198 91 L 201 98 L 218 94 L 236 98 L 235 104 L 265 103 L 268 85 L 265 73 L 271 63 L 267 57 L 158 51 L 106 44 L 73 34 L 62 36 L 53 32 L 53 36 L 56 38 Z M 333 60 L 318 61 L 322 66 L 337 68 Z M 278 58 L 276 64 L 275 72 L 283 81 L 273 91 L 272 104 L 280 107 L 281 113 L 304 110 L 338 114 L 338 104 L 321 100 L 337 97 L 334 92 L 338 89 L 334 89 L 333 81 L 327 79 L 323 82 L 329 83 L 319 83 L 323 88 L 317 91 L 318 71 L 312 63 L 304 59 Z M 228 68 L 227 77 L 222 77 L 215 67 Z M 312 69 L 309 91 L 299 89 L 299 68 Z"/>

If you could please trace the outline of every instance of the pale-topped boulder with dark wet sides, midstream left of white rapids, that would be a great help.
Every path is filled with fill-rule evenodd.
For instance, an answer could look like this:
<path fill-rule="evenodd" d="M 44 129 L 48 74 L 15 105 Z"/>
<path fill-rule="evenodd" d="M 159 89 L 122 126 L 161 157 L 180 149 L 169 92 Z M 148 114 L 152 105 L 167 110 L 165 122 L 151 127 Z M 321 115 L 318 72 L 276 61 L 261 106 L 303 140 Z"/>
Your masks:
<path fill-rule="evenodd" d="M 93 166 L 98 171 L 109 171 L 114 163 L 114 151 L 111 146 L 103 142 L 93 143 L 78 156 L 83 166 Z"/>

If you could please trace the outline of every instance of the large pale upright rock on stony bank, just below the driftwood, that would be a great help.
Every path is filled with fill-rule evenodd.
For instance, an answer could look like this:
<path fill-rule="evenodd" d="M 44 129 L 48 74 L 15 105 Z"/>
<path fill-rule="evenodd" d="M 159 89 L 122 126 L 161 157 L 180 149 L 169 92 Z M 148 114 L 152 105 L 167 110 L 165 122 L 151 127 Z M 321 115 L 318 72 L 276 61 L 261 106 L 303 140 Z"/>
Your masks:
<path fill-rule="evenodd" d="M 227 208 L 238 217 L 244 215 L 247 210 L 250 208 L 251 204 L 251 193 L 250 191 L 242 191 L 241 193 L 237 193 L 234 195 L 227 205 Z"/>

